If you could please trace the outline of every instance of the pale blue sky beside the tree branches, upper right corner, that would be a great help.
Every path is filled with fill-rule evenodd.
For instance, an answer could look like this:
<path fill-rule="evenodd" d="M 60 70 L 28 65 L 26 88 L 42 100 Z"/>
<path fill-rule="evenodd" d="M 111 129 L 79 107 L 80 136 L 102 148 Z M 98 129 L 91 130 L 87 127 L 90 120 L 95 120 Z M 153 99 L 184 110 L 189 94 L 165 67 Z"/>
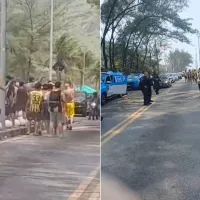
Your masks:
<path fill-rule="evenodd" d="M 102 4 L 104 0 L 100 0 L 100 3 Z M 198 29 L 200 31 L 200 0 L 189 0 L 189 7 L 185 8 L 185 10 L 180 14 L 182 18 L 192 18 L 192 27 L 195 29 Z M 199 58 L 199 50 L 198 50 L 198 39 L 196 35 L 188 35 L 189 39 L 191 40 L 192 45 L 188 45 L 185 43 L 181 42 L 175 42 L 172 41 L 171 43 L 171 48 L 166 50 L 165 55 L 166 56 L 169 52 L 169 50 L 175 50 L 176 48 L 178 49 L 183 49 L 184 51 L 189 52 L 192 57 L 194 63 L 192 64 L 192 67 L 195 67 L 195 58 L 197 54 L 197 62 L 198 62 L 198 68 L 200 68 L 200 58 Z"/>

